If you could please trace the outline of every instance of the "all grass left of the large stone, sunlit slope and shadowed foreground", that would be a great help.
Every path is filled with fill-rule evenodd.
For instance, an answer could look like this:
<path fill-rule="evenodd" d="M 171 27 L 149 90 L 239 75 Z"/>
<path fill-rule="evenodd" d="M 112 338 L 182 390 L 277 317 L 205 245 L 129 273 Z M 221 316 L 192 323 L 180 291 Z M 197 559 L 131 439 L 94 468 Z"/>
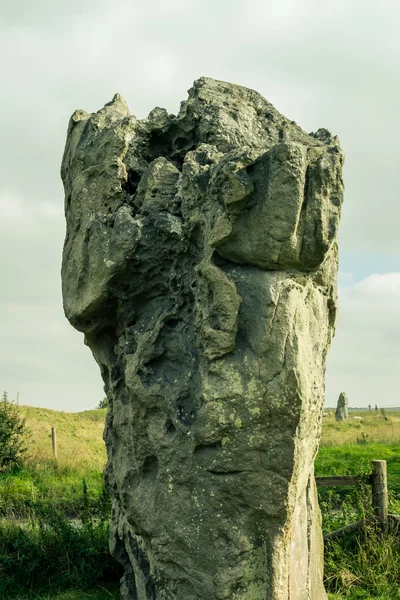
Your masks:
<path fill-rule="evenodd" d="M 108 551 L 102 479 L 106 411 L 20 410 L 28 456 L 22 469 L 0 474 L 0 600 L 117 598 L 122 573 Z"/>

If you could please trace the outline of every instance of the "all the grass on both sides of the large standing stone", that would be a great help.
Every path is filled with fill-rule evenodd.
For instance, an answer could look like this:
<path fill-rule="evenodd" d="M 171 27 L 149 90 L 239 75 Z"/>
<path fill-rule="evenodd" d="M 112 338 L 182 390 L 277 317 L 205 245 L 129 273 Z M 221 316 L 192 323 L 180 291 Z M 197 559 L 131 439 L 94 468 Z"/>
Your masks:
<path fill-rule="evenodd" d="M 108 572 L 103 569 L 104 561 L 112 561 L 107 550 L 108 514 L 104 517 L 107 509 L 101 475 L 106 411 L 20 410 L 27 416 L 31 432 L 29 455 L 22 470 L 0 475 L 0 600 L 118 598 L 119 567 L 111 562 Z M 352 420 L 352 416 L 362 416 L 363 421 Z M 324 418 L 315 473 L 362 475 L 370 472 L 371 460 L 386 460 L 390 510 L 400 513 L 400 412 L 387 412 L 387 416 L 386 421 L 375 412 L 360 411 L 350 413 L 350 420 L 344 423 Z M 57 429 L 57 461 L 51 453 L 51 427 Z M 320 488 L 324 531 L 363 516 L 370 510 L 368 494 L 370 497 L 370 488 L 361 492 Z M 49 510 L 59 521 L 47 519 Z M 25 519 L 22 528 L 16 517 Z M 79 527 L 76 523 L 70 526 L 70 517 L 78 520 Z M 31 520 L 28 527 L 27 519 Z M 352 536 L 327 544 L 329 600 L 400 599 L 399 556 L 398 538 L 382 541 L 373 531 L 364 538 Z M 4 557 L 8 557 L 8 565 Z"/>

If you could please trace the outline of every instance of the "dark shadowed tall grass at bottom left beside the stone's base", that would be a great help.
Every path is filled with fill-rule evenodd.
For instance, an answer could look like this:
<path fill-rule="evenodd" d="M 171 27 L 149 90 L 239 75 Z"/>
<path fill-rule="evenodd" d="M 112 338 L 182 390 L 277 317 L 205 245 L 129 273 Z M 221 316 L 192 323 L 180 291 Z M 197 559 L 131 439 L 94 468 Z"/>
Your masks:
<path fill-rule="evenodd" d="M 84 480 L 80 512 L 74 520 L 51 504 L 37 504 L 22 523 L 4 520 L 0 525 L 0 598 L 117 583 L 121 570 L 108 551 L 109 515 L 106 493 L 90 502 Z"/>

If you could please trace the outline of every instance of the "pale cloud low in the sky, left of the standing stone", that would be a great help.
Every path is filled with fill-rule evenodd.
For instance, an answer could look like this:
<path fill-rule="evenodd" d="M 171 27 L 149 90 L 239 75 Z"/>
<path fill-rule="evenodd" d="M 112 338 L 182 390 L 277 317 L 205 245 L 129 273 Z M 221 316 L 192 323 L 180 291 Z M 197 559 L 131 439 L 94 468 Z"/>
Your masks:
<path fill-rule="evenodd" d="M 21 404 L 72 412 L 104 397 L 99 368 L 61 303 L 0 301 L 0 330 L 0 385 L 10 397 L 19 392 Z"/>

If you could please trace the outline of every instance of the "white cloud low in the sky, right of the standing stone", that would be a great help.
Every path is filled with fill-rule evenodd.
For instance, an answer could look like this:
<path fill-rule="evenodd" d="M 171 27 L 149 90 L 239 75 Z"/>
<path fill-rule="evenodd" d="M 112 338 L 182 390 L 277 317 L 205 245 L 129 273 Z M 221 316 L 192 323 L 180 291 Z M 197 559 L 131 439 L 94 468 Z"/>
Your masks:
<path fill-rule="evenodd" d="M 400 273 L 373 274 L 341 288 L 327 404 L 346 391 L 352 406 L 400 405 L 399 340 Z"/>

